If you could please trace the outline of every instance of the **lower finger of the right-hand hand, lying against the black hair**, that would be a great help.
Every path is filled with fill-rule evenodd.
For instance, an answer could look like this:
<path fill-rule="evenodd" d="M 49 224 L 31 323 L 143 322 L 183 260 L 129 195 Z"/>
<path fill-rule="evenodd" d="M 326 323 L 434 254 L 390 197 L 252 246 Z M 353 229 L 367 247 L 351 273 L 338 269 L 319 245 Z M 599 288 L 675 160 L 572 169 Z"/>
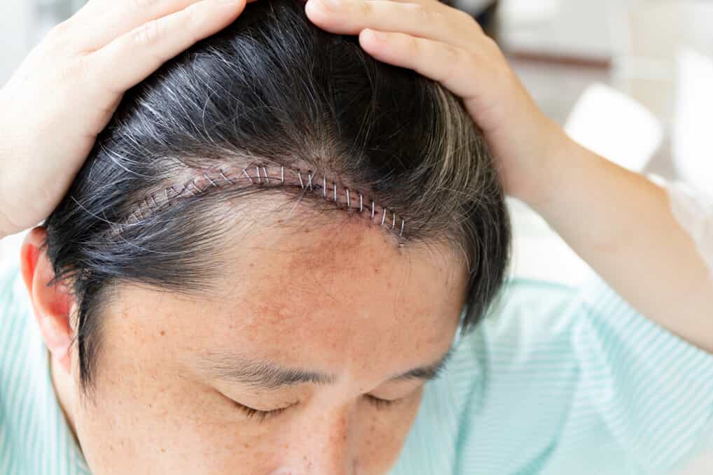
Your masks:
<path fill-rule="evenodd" d="M 359 43 L 379 61 L 413 69 L 465 100 L 477 99 L 478 89 L 495 76 L 485 56 L 441 41 L 367 28 L 359 34 Z"/>

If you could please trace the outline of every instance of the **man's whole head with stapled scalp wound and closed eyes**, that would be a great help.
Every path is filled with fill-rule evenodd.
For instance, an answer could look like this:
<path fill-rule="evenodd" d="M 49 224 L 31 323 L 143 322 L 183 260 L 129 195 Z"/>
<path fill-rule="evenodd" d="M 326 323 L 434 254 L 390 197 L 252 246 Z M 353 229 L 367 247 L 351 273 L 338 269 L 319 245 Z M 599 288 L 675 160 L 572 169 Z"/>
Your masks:
<path fill-rule="evenodd" d="M 125 95 L 26 239 L 97 475 L 384 474 L 501 284 L 503 192 L 461 102 L 302 8 L 250 4 Z"/>

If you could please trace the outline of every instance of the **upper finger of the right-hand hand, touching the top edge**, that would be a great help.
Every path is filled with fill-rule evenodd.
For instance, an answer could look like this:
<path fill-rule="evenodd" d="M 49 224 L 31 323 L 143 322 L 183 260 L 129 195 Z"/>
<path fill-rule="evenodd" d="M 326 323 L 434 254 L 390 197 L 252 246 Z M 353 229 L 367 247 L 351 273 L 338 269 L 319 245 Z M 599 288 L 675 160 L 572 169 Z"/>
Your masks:
<path fill-rule="evenodd" d="M 482 33 L 475 19 L 438 1 L 412 3 L 391 0 L 339 0 L 328 4 L 309 0 L 309 19 L 331 33 L 356 35 L 364 28 L 406 33 L 451 43 L 461 48 L 477 47 Z"/>

